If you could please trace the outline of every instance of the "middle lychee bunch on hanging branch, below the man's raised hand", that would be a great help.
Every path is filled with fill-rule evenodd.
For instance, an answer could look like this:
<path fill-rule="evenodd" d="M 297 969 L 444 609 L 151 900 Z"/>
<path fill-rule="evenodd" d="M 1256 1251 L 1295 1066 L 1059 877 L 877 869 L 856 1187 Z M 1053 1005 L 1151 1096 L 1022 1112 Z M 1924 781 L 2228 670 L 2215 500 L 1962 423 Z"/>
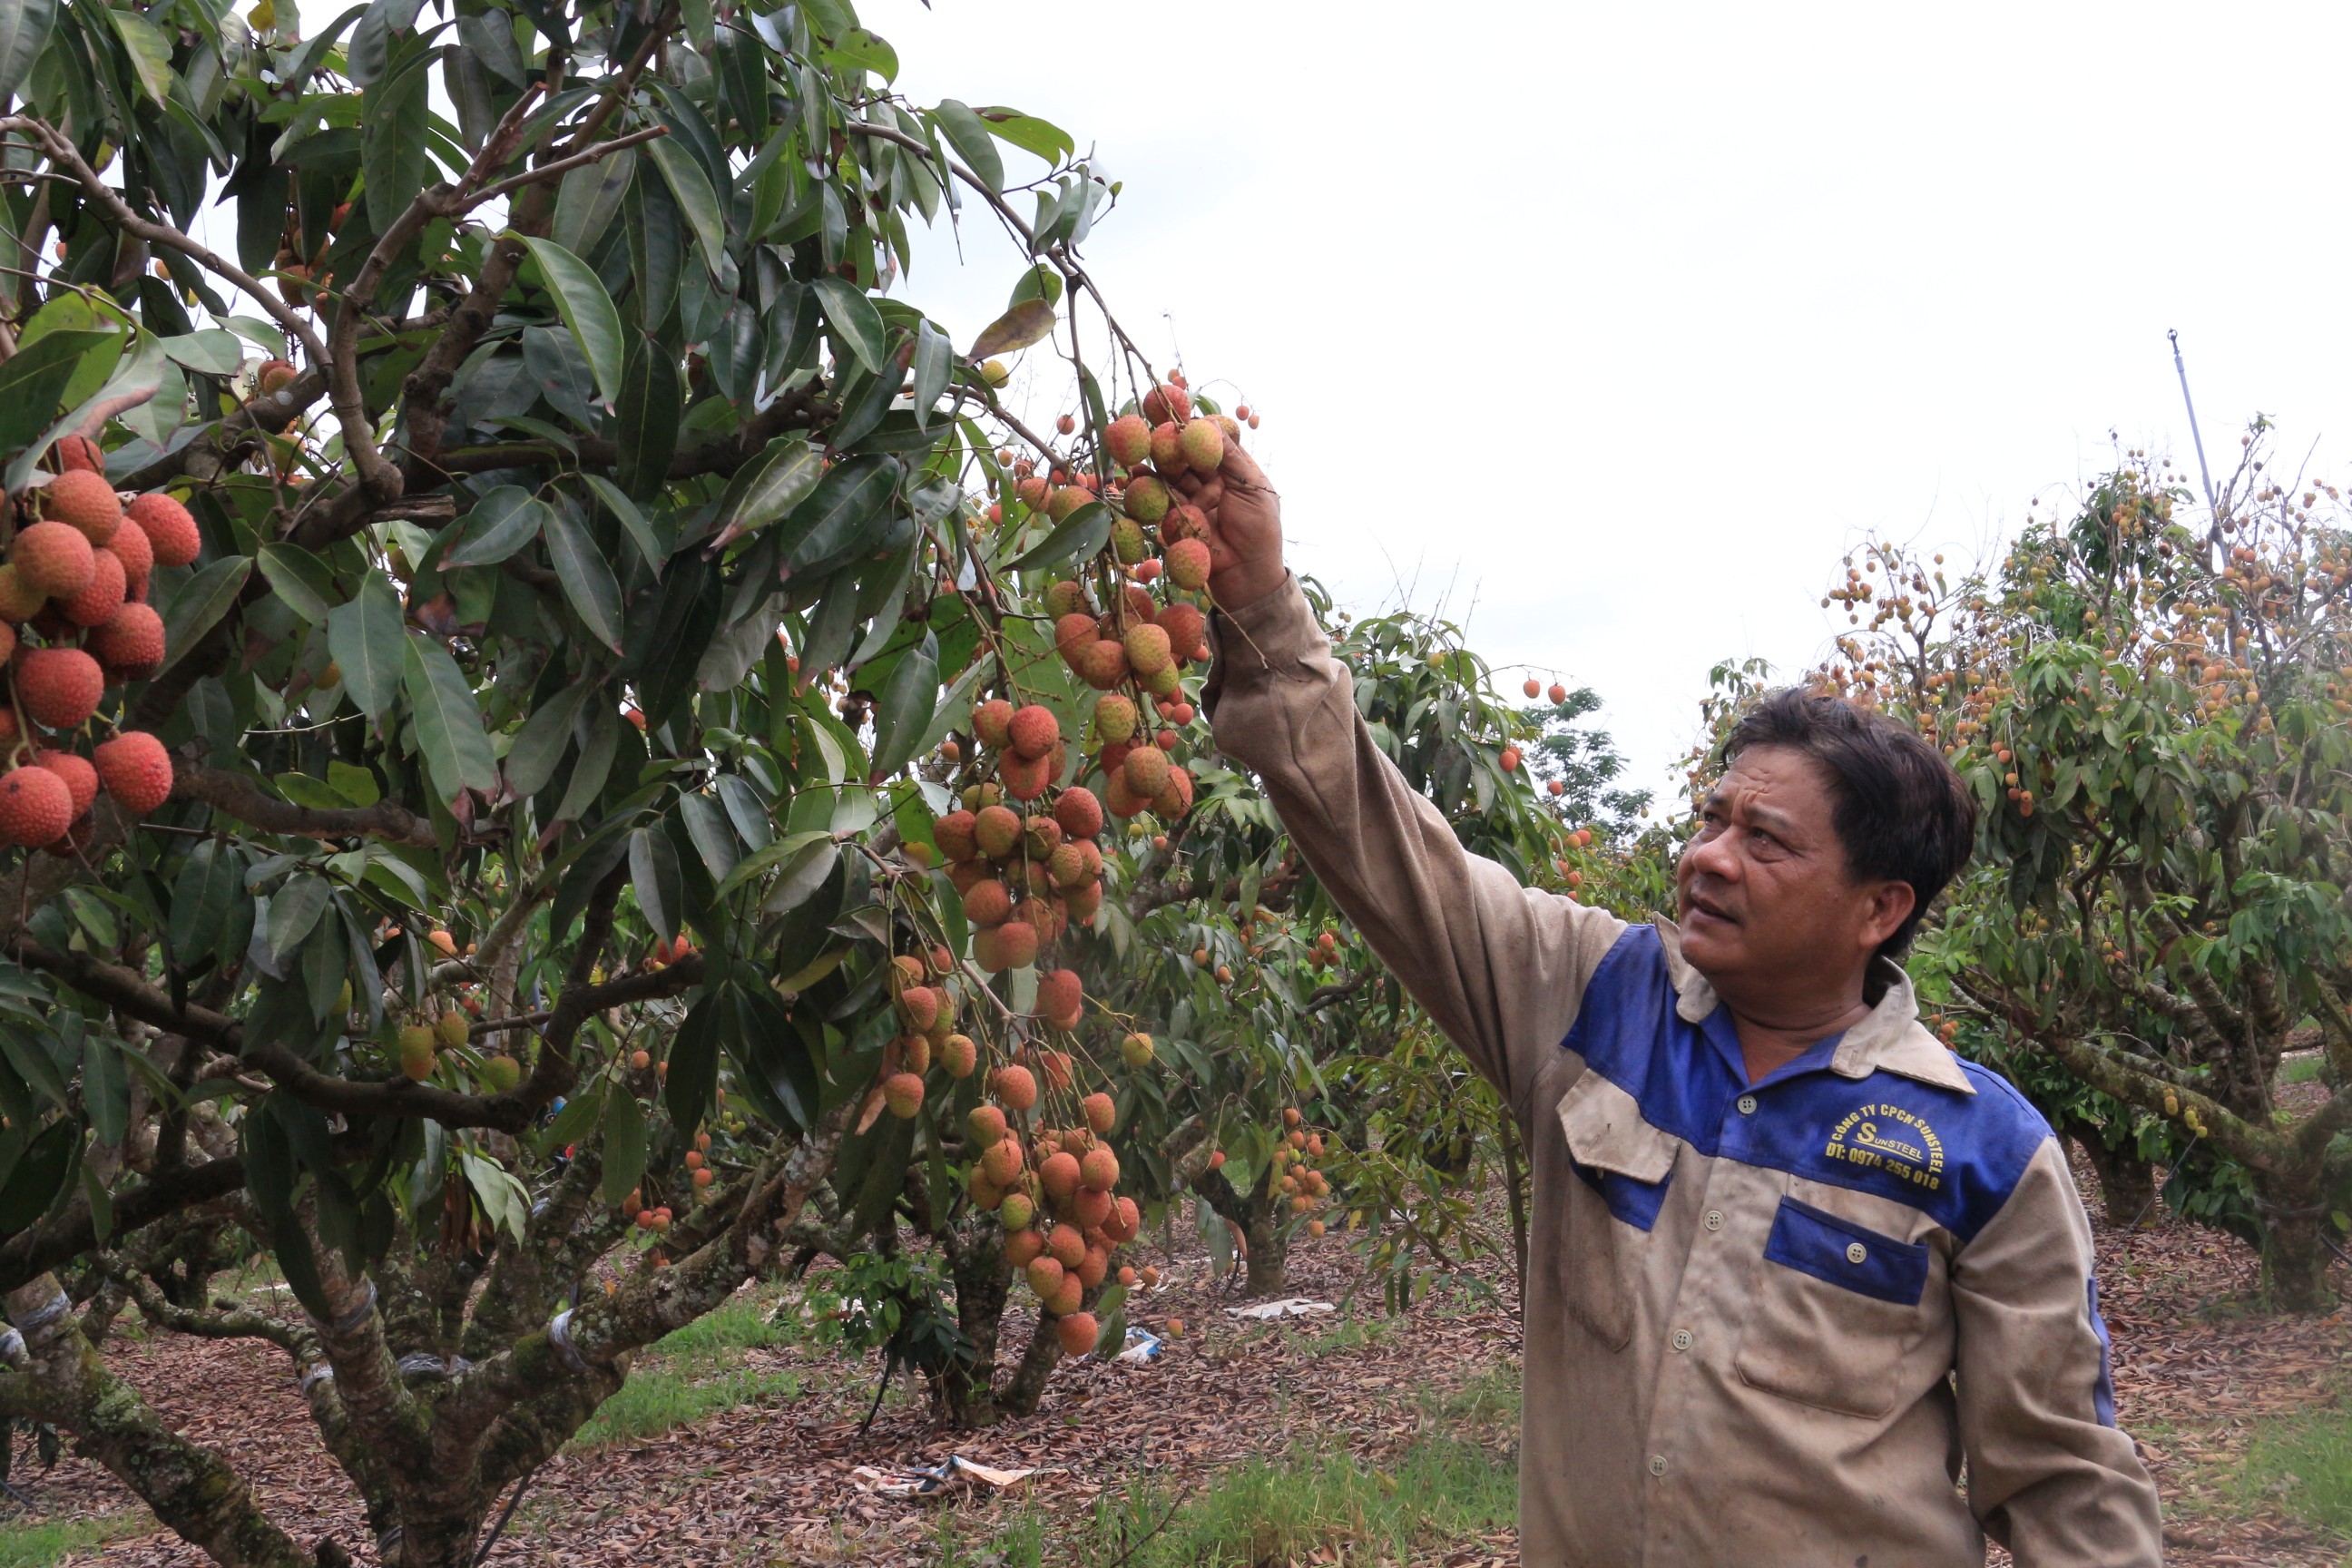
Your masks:
<path fill-rule="evenodd" d="M 969 785 L 964 804 L 931 823 L 931 839 L 964 898 L 971 957 L 997 973 L 1035 964 L 1073 922 L 1094 919 L 1103 903 L 1103 851 L 1096 849 L 1103 804 L 1094 790 L 1073 785 L 1051 811 L 1014 809 L 1030 806 L 1044 792 L 1042 769 L 1058 766 L 1051 759 L 1061 755 L 1061 726 L 1049 708 L 988 701 L 974 710 L 971 731 L 997 748 L 1004 783 Z M 1070 980 L 1075 985 L 1075 976 Z M 1044 994 L 1040 985 L 1040 1004 Z M 1070 1025 L 1061 1027 L 1075 1023 L 1073 1001 Z"/>

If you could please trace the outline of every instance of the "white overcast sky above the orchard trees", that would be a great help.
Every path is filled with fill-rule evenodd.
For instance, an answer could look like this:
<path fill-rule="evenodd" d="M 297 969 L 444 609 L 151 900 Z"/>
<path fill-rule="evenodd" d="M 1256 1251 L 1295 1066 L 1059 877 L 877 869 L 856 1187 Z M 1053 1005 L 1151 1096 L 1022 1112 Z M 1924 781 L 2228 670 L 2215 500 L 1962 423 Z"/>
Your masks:
<path fill-rule="evenodd" d="M 1642 783 L 1867 529 L 1973 557 L 2124 444 L 2352 435 L 2352 7 L 863 0 L 898 87 L 1124 181 L 1087 244 L 1263 409 L 1291 559 L 1592 684 Z M 1009 155 L 1016 174 L 1037 165 Z M 960 343 L 1016 259 L 908 296 Z M 1519 672 L 1512 668 L 1515 679 Z"/>

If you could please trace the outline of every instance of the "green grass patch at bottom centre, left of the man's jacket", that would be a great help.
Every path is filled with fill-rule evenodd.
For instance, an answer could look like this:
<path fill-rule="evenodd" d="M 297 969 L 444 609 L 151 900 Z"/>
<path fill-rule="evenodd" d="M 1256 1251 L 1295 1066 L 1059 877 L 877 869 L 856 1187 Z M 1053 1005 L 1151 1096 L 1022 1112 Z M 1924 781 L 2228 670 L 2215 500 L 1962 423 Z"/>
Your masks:
<path fill-rule="evenodd" d="M 969 1537 L 941 1523 L 938 1568 L 1044 1568 L 1110 1561 L 1131 1568 L 1261 1568 L 1324 1549 L 1343 1561 L 1421 1561 L 1508 1528 L 1519 1516 L 1519 1474 L 1505 1453 L 1519 1415 L 1517 1368 L 1498 1368 L 1423 1401 L 1432 1427 L 1381 1465 L 1336 1443 L 1301 1443 L 1251 1458 L 1181 1497 L 1157 1483 L 1117 1488 L 1070 1528 L 1037 1507 Z M 1148 1537 L 1148 1540 L 1145 1540 Z M 1141 1544 L 1138 1544 L 1141 1542 Z"/>

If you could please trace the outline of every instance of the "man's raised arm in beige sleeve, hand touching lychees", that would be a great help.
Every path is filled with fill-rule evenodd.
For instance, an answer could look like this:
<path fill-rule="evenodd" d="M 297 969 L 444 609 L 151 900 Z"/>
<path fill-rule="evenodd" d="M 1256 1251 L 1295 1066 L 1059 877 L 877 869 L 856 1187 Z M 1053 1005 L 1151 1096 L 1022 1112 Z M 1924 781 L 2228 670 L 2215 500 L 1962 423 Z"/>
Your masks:
<path fill-rule="evenodd" d="M 1279 498 L 1240 444 L 1228 440 L 1223 468 L 1188 489 L 1211 527 L 1204 708 L 1218 750 L 1258 773 L 1334 903 L 1524 1117 L 1536 1070 L 1625 924 L 1468 853 L 1381 755 L 1355 679 L 1282 564 Z"/>

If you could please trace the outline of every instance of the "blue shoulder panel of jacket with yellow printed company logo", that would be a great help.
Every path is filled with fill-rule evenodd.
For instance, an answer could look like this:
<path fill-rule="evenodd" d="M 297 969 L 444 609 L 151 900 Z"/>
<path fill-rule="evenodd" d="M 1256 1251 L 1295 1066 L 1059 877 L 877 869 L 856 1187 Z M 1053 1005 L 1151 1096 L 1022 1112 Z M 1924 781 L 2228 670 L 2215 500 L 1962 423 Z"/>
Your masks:
<path fill-rule="evenodd" d="M 1698 1025 L 1675 1013 L 1656 926 L 1618 938 L 1562 1044 L 1696 1152 L 1910 1204 L 1962 1244 L 2002 1211 L 2051 1135 L 2025 1095 L 1976 1063 L 1962 1063 L 1976 1086 L 1964 1095 L 1896 1072 L 1839 1077 L 1818 1046 L 1811 1067 L 1750 1088 L 1724 1009 Z M 1733 1110 L 1743 1093 L 1755 1093 L 1755 1114 Z"/>

